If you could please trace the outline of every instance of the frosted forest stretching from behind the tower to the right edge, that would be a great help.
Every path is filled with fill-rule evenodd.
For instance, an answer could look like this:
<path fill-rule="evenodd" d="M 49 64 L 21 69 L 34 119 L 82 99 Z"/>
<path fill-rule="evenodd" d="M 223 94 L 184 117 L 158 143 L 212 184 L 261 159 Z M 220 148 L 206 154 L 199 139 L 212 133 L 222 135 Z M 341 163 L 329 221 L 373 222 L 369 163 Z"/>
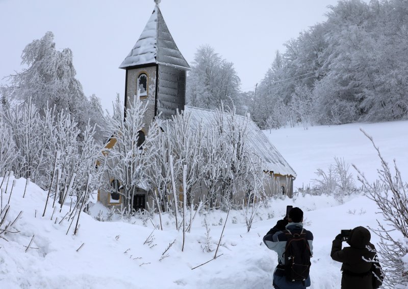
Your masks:
<path fill-rule="evenodd" d="M 232 63 L 200 47 L 189 73 L 188 104 L 234 102 L 262 129 L 406 119 L 408 1 L 343 0 L 326 16 L 276 51 L 250 92 L 240 92 Z"/>

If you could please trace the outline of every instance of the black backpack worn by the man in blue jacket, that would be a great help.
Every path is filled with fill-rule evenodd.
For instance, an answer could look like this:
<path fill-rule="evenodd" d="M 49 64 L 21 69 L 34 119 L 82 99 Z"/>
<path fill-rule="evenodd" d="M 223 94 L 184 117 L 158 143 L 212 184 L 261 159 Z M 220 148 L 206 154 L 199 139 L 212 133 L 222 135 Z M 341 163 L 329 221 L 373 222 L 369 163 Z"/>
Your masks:
<path fill-rule="evenodd" d="M 290 230 L 284 231 L 287 237 L 285 247 L 285 276 L 288 281 L 304 281 L 309 276 L 310 246 L 303 228 L 300 234 L 292 234 Z"/>

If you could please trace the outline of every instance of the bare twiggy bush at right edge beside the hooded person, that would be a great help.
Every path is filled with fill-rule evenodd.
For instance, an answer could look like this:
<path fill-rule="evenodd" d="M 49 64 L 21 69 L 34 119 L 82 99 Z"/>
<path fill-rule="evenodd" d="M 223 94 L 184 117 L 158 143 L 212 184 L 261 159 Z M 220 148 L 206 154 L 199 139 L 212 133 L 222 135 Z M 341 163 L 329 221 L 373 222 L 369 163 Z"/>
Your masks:
<path fill-rule="evenodd" d="M 363 130 L 362 130 L 363 131 Z M 385 273 L 384 286 L 386 288 L 408 287 L 408 183 L 402 180 L 400 171 L 394 160 L 395 175 L 382 157 L 373 138 L 363 133 L 371 140 L 381 162 L 378 169 L 378 180 L 370 184 L 363 172 L 359 171 L 359 180 L 368 193 L 368 197 L 375 201 L 383 220 L 377 220 L 378 228 L 372 229 L 381 241 L 378 253 L 382 270 Z"/>

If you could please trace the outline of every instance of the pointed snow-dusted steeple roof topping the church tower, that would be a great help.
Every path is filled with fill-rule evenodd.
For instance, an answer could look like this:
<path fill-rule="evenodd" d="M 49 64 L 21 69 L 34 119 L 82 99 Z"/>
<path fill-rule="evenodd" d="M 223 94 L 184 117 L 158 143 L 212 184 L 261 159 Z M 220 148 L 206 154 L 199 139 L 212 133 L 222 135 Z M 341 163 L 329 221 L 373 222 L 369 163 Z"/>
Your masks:
<path fill-rule="evenodd" d="M 156 5 L 139 40 L 119 68 L 126 69 L 144 64 L 162 64 L 190 70 L 167 28 L 163 15 Z"/>

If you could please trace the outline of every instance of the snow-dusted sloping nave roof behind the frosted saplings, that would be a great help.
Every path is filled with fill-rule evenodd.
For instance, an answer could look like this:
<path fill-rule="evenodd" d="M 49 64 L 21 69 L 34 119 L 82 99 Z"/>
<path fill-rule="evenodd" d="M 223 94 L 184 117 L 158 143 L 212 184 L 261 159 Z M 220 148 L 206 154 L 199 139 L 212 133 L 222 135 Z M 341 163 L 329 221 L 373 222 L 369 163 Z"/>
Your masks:
<path fill-rule="evenodd" d="M 197 107 L 185 106 L 184 111 L 191 114 L 193 125 L 213 123 L 215 120 L 215 112 L 211 110 L 204 110 Z M 243 118 L 237 115 L 237 118 Z M 284 159 L 284 157 L 276 150 L 276 148 L 269 142 L 266 135 L 261 129 L 251 120 L 249 120 L 249 143 L 253 151 L 263 159 L 265 163 L 265 171 L 272 171 L 274 174 L 282 176 L 292 176 L 296 178 L 296 172 Z"/>

